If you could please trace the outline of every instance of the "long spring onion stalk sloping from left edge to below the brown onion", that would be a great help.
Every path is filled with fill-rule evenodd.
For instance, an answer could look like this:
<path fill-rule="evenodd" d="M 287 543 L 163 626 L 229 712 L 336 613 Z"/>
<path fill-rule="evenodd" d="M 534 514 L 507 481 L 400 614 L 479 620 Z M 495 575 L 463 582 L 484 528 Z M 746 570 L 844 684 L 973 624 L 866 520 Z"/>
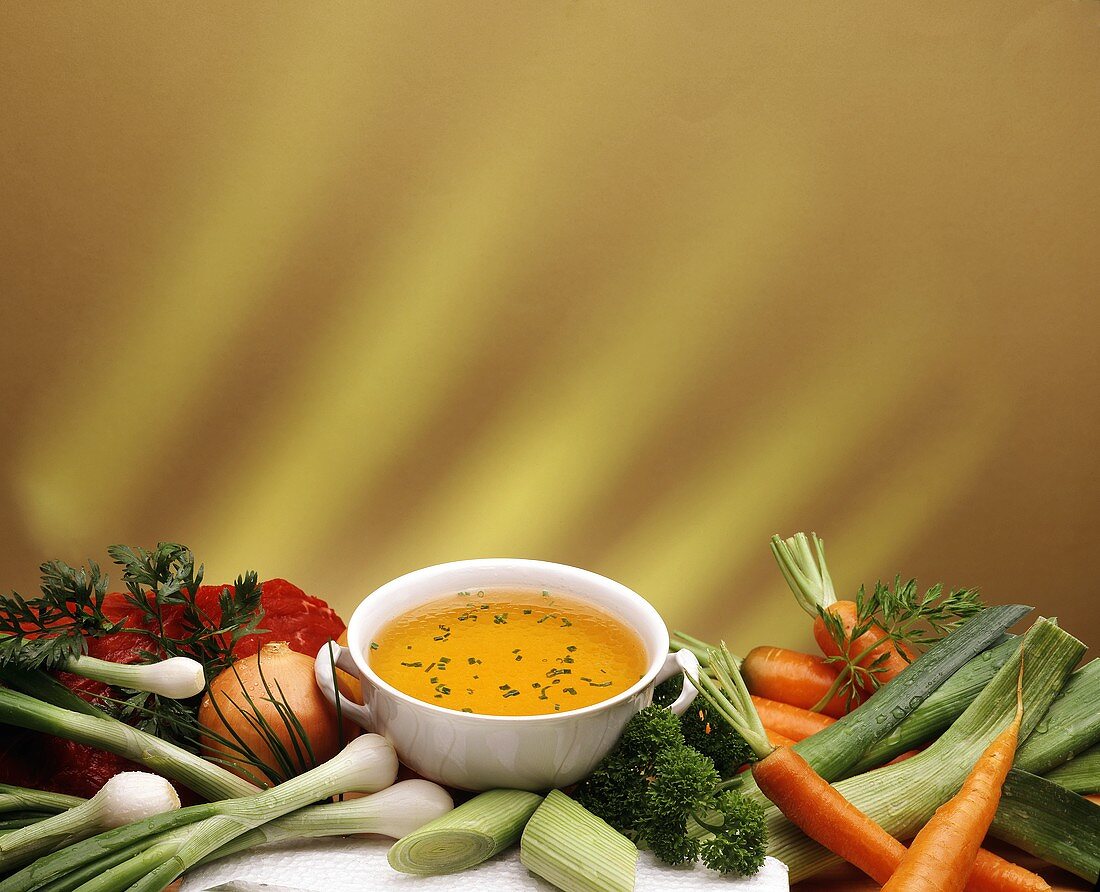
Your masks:
<path fill-rule="evenodd" d="M 102 714 L 64 709 L 4 687 L 0 687 L 0 723 L 105 749 L 179 781 L 206 799 L 245 796 L 257 789 L 182 747 L 122 722 Z"/>

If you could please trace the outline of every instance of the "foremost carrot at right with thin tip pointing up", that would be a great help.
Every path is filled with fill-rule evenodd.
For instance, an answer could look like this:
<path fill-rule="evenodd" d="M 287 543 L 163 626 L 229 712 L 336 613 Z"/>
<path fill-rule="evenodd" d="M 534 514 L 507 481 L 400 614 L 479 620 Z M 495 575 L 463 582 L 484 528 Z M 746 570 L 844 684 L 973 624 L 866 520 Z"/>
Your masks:
<path fill-rule="evenodd" d="M 916 835 L 893 876 L 888 892 L 961 892 L 974 870 L 986 830 L 1001 801 L 1012 768 L 1023 719 L 1023 660 L 1016 679 L 1016 714 L 986 748 L 958 793 L 936 810 Z"/>

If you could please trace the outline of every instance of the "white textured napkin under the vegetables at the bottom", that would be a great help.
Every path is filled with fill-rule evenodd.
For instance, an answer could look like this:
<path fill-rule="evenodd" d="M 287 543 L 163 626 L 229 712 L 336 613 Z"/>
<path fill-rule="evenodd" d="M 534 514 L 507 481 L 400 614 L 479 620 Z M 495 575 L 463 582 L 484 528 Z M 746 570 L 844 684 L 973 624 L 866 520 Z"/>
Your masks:
<path fill-rule="evenodd" d="M 204 892 L 230 880 L 290 887 L 308 892 L 362 892 L 364 889 L 404 889 L 407 892 L 477 890 L 510 892 L 530 889 L 553 892 L 553 887 L 528 873 L 516 849 L 461 873 L 409 877 L 386 862 L 389 839 L 336 837 L 295 844 L 262 846 L 193 870 L 180 892 Z M 649 852 L 638 858 L 637 892 L 649 890 L 722 889 L 726 892 L 789 892 L 787 866 L 769 858 L 751 879 L 721 877 L 702 866 L 670 868 Z"/>

